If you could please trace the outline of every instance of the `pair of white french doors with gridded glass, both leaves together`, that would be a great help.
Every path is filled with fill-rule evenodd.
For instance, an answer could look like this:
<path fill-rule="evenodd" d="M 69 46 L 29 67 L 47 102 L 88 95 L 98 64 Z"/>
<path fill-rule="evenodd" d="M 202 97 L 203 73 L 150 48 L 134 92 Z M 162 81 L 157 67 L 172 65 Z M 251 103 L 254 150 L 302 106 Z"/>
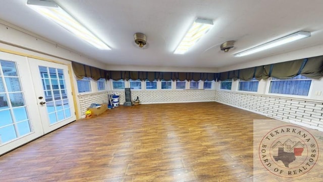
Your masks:
<path fill-rule="evenodd" d="M 66 65 L 0 52 L 0 155 L 76 119 Z"/>

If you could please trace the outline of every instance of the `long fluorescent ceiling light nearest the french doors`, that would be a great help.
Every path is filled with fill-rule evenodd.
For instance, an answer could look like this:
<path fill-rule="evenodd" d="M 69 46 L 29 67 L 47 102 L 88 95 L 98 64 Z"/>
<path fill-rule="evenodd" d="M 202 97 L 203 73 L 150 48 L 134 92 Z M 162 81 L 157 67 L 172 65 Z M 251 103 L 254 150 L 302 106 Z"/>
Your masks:
<path fill-rule="evenodd" d="M 27 6 L 45 16 L 46 18 L 58 23 L 63 28 L 75 34 L 77 37 L 87 41 L 100 50 L 111 50 L 104 42 L 97 38 L 87 28 L 76 21 L 71 15 L 64 11 L 53 1 L 28 0 Z"/>

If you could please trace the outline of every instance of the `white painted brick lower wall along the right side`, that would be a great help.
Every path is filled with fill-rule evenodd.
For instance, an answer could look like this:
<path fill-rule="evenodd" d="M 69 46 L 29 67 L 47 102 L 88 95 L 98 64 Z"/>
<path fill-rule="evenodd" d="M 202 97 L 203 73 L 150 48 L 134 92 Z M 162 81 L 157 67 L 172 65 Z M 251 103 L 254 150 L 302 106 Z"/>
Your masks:
<path fill-rule="evenodd" d="M 247 93 L 215 91 L 217 102 L 323 131 L 323 102 Z"/>

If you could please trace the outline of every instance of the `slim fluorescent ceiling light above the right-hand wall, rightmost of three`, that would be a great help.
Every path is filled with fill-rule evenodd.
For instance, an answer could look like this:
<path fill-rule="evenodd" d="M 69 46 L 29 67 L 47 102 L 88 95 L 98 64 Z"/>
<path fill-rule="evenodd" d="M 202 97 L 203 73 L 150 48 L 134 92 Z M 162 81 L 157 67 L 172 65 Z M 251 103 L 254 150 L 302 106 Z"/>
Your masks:
<path fill-rule="evenodd" d="M 235 57 L 247 56 L 247 55 L 250 55 L 250 54 L 253 54 L 253 53 L 257 53 L 257 52 L 260 52 L 260 51 L 263 51 L 263 50 L 271 49 L 271 48 L 277 47 L 279 45 L 289 43 L 289 42 L 292 42 L 292 41 L 295 41 L 295 40 L 299 40 L 299 39 L 302 39 L 302 38 L 310 37 L 310 36 L 311 36 L 311 32 L 299 31 L 299 32 L 284 36 L 282 38 L 279 38 L 279 39 L 276 39 L 276 40 L 273 40 L 273 41 L 258 45 L 258 46 L 254 47 L 254 48 L 251 48 L 251 49 L 236 53 L 236 54 L 234 54 L 234 56 Z"/>

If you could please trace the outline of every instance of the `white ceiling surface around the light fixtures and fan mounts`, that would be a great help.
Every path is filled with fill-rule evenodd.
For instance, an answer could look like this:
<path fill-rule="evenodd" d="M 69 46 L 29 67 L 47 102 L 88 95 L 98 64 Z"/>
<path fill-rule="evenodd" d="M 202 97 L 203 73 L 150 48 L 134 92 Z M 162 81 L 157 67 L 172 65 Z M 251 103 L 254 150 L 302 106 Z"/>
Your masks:
<path fill-rule="evenodd" d="M 321 0 L 57 0 L 112 50 L 102 51 L 26 6 L 27 0 L 0 0 L 0 19 L 110 65 L 218 68 L 323 44 Z M 173 52 L 197 18 L 213 28 L 185 55 Z M 312 36 L 241 58 L 234 53 L 300 30 Z M 133 34 L 145 33 L 149 47 L 139 49 Z M 220 44 L 235 40 L 235 48 Z"/>

